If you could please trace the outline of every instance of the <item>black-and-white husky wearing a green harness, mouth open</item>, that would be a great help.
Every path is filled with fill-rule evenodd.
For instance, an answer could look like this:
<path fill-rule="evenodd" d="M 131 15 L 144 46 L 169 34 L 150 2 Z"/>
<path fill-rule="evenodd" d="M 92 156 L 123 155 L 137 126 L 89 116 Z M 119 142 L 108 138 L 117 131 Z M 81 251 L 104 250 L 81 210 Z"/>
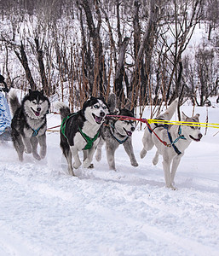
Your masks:
<path fill-rule="evenodd" d="M 100 140 L 101 125 L 109 113 L 109 108 L 103 97 L 94 96 L 84 102 L 83 108 L 77 113 L 70 113 L 70 109 L 62 102 L 56 102 L 55 108 L 59 108 L 61 113 L 60 146 L 67 160 L 68 172 L 75 176 L 73 168 L 78 169 L 82 165 L 78 155 L 79 151 L 84 151 L 83 167 L 92 166 L 91 161 Z"/>

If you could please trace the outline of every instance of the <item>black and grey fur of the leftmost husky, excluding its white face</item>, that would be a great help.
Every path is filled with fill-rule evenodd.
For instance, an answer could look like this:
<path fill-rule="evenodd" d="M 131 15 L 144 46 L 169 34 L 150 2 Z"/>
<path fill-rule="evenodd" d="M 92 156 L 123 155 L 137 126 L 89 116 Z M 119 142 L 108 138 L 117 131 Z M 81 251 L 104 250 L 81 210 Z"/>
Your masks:
<path fill-rule="evenodd" d="M 35 120 L 26 113 L 26 101 L 35 101 L 37 102 L 37 104 L 39 103 L 39 101 L 48 102 L 48 108 L 43 108 L 44 113 L 37 120 Z M 21 104 L 19 103 L 17 96 L 9 96 L 9 104 L 12 112 L 14 113 L 14 117 L 11 121 L 11 137 L 14 143 L 14 148 L 19 155 L 19 159 L 21 161 L 23 160 L 23 153 L 27 148 L 26 153 L 32 153 L 37 160 L 41 160 L 45 157 L 46 154 L 46 113 L 48 113 L 50 108 L 49 99 L 46 96 L 43 96 L 43 90 L 29 90 L 29 94 L 23 98 Z M 34 130 L 38 131 L 33 137 Z M 24 140 L 26 140 L 26 143 L 24 143 Z M 40 155 L 37 154 L 38 140 L 41 146 Z"/>

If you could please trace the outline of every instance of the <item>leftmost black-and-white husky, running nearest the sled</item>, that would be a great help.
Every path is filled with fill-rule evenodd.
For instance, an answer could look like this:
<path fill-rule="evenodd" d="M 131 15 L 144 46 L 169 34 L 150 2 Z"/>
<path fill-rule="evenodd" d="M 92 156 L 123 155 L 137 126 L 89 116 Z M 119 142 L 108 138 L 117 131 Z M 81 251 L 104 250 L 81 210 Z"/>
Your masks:
<path fill-rule="evenodd" d="M 46 114 L 50 103 L 43 90 L 29 90 L 21 103 L 15 90 L 9 93 L 9 106 L 13 115 L 11 121 L 11 137 L 20 161 L 23 153 L 31 154 L 36 160 L 42 160 L 46 155 Z M 37 153 L 37 144 L 40 153 Z"/>

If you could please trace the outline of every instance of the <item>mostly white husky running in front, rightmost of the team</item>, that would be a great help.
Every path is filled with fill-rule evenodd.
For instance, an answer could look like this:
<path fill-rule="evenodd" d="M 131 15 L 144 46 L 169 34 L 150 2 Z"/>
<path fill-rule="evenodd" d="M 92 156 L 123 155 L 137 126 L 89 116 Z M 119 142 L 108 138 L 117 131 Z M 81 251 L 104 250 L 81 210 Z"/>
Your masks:
<path fill-rule="evenodd" d="M 170 104 L 167 110 L 158 115 L 156 119 L 170 120 L 176 111 L 178 99 Z M 153 165 L 157 165 L 158 156 L 163 156 L 163 169 L 164 179 L 167 188 L 176 189 L 174 187 L 174 178 L 176 175 L 177 167 L 180 164 L 185 149 L 189 144 L 199 142 L 202 138 L 199 126 L 192 126 L 193 122 L 199 122 L 199 113 L 193 117 L 187 117 L 182 112 L 182 121 L 191 122 L 183 125 L 164 125 L 164 124 L 151 124 L 150 127 L 145 129 L 144 136 L 142 138 L 143 149 L 141 150 L 141 159 L 145 157 L 148 150 L 151 150 L 155 145 L 157 152 L 153 158 Z M 188 125 L 186 125 L 188 124 Z M 169 143 L 169 147 L 165 146 L 158 140 L 158 137 L 164 142 Z M 171 166 L 171 172 L 170 172 Z"/>

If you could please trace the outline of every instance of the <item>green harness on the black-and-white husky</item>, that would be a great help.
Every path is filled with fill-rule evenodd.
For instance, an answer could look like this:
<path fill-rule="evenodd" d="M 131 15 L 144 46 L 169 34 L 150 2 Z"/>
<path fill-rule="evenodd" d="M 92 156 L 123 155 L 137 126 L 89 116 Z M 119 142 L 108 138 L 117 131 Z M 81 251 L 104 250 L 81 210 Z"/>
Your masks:
<path fill-rule="evenodd" d="M 78 112 L 77 112 L 78 113 Z M 72 116 L 76 115 L 77 113 L 70 113 L 66 118 L 64 118 L 61 122 L 61 133 L 66 137 L 66 123 L 67 121 L 72 118 Z M 95 142 L 95 140 L 99 137 L 100 131 L 97 131 L 95 137 L 91 138 L 89 136 L 87 136 L 78 126 L 78 130 L 80 131 L 80 134 L 82 135 L 82 137 L 84 137 L 84 140 L 87 142 L 87 145 L 83 148 L 83 150 L 86 149 L 90 149 L 93 147 L 93 143 Z M 68 139 L 66 137 L 66 139 Z"/>

